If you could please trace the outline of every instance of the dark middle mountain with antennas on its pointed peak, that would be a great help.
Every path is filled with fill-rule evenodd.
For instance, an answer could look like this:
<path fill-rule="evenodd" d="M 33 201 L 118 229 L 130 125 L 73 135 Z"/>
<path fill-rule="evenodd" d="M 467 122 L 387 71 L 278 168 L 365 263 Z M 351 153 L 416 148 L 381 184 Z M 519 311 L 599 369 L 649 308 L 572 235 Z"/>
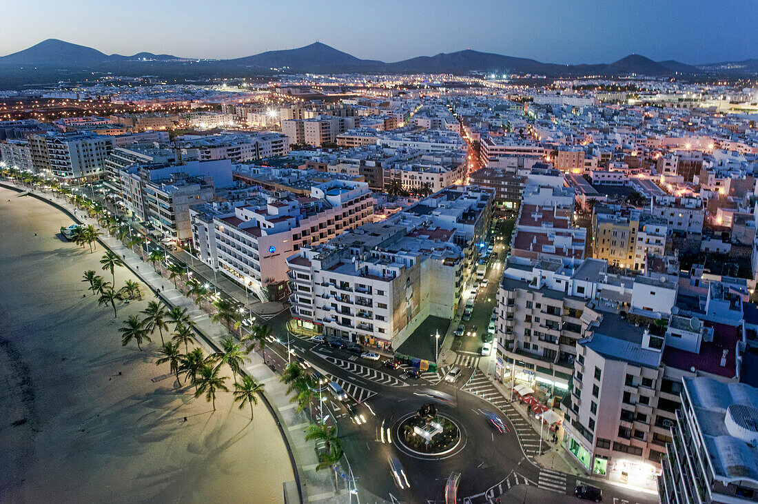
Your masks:
<path fill-rule="evenodd" d="M 338 67 L 368 67 L 377 64 L 381 66 L 384 64 L 381 61 L 356 58 L 321 42 L 315 42 L 297 49 L 267 51 L 245 58 L 235 58 L 227 60 L 227 63 L 267 69 L 290 67 L 303 71 Z"/>

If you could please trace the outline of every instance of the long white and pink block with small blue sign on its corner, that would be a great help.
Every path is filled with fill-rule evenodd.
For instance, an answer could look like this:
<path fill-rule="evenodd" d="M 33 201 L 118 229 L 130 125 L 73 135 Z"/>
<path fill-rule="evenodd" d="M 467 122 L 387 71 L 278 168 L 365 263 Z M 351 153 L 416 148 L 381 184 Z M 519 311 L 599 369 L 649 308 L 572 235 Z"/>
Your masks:
<path fill-rule="evenodd" d="M 191 213 L 202 261 L 266 300 L 269 286 L 287 282 L 287 256 L 371 222 L 374 203 L 366 183 L 332 180 L 310 196 L 264 191 L 228 212 L 205 205 Z"/>

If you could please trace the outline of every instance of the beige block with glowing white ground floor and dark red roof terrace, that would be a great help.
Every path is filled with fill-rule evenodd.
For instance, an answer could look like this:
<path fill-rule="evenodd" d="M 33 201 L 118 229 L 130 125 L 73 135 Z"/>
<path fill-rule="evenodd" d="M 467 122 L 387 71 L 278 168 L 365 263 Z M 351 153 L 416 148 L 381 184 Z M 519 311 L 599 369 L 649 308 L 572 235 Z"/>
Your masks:
<path fill-rule="evenodd" d="M 659 299 L 652 286 L 660 280 L 647 278 L 643 293 L 650 289 L 656 295 L 650 297 Z M 745 336 L 741 315 L 735 317 L 739 303 L 724 304 L 719 282 L 709 283 L 697 308 L 679 299 L 689 297 L 683 290 L 676 295 L 678 314 L 629 318 L 606 312 L 578 341 L 572 393 L 561 404 L 562 446 L 587 472 L 652 487 L 678 420 L 682 379 L 740 380 Z"/>

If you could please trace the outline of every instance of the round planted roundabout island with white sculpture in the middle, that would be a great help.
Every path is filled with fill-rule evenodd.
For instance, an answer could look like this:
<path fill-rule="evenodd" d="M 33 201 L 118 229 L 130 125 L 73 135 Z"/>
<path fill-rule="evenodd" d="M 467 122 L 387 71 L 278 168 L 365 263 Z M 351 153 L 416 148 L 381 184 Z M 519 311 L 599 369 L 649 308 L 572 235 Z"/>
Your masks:
<path fill-rule="evenodd" d="M 446 459 L 465 446 L 465 436 L 452 418 L 437 412 L 433 404 L 396 423 L 396 446 L 416 459 Z"/>

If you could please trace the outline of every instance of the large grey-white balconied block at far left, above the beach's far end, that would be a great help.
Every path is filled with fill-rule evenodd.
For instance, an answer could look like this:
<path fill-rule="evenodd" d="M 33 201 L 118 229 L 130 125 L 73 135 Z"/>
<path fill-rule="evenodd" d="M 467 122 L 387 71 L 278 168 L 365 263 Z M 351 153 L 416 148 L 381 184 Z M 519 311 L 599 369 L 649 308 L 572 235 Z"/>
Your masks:
<path fill-rule="evenodd" d="M 35 171 L 65 180 L 97 180 L 113 140 L 95 133 L 31 135 L 29 147 Z"/>

